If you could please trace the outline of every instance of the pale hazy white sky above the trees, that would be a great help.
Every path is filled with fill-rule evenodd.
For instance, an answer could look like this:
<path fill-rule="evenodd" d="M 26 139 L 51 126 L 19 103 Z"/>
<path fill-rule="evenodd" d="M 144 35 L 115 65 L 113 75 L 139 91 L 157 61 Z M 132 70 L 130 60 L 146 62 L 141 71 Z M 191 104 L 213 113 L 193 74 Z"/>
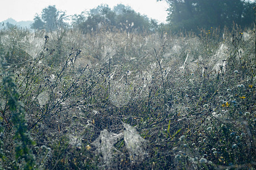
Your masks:
<path fill-rule="evenodd" d="M 8 18 L 13 18 L 17 22 L 33 20 L 36 13 L 40 14 L 43 8 L 49 5 L 55 5 L 57 10 L 65 11 L 67 15 L 74 15 L 100 4 L 108 4 L 112 8 L 118 3 L 131 6 L 148 18 L 164 22 L 168 8 L 166 1 L 156 2 L 156 0 L 0 0 L 0 2 L 0 22 Z"/>

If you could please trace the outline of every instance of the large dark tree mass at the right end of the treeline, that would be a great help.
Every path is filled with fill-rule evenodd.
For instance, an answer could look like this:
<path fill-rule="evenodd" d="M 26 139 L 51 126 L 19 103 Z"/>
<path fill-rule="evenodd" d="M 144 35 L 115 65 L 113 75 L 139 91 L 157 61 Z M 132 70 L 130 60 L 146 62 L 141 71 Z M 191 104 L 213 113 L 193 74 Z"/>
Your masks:
<path fill-rule="evenodd" d="M 161 0 L 160 0 L 161 1 Z M 233 23 L 242 27 L 253 20 L 253 3 L 244 0 L 166 0 L 169 4 L 167 21 L 174 31 L 225 26 Z M 251 9 L 251 10 L 249 10 Z"/>

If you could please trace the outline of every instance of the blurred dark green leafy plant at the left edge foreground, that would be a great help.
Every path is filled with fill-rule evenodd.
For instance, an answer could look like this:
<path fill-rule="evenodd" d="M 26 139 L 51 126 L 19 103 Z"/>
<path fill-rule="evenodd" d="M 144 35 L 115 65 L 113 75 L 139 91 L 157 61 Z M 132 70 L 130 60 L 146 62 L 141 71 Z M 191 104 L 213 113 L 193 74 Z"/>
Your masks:
<path fill-rule="evenodd" d="M 14 146 L 15 146 L 15 169 L 34 169 L 35 165 L 35 158 L 31 152 L 31 148 L 34 145 L 34 141 L 32 140 L 30 133 L 27 129 L 27 123 L 25 119 L 25 111 L 24 105 L 22 102 L 19 101 L 19 93 L 16 84 L 14 83 L 13 77 L 9 71 L 6 71 L 8 68 L 6 63 L 2 63 L 2 92 L 3 96 L 6 99 L 6 107 L 5 109 L 1 109 L 2 113 L 2 120 L 6 120 L 6 114 L 10 112 L 10 122 L 8 123 L 9 130 L 14 128 Z M 12 125 L 11 125 L 11 124 Z M 11 126 L 13 127 L 11 127 Z M 2 127 L 1 127 L 2 129 Z M 1 133 L 3 133 L 1 131 Z M 1 140 L 1 151 L 3 151 L 3 141 Z M 1 153 L 1 159 L 3 159 Z"/>

